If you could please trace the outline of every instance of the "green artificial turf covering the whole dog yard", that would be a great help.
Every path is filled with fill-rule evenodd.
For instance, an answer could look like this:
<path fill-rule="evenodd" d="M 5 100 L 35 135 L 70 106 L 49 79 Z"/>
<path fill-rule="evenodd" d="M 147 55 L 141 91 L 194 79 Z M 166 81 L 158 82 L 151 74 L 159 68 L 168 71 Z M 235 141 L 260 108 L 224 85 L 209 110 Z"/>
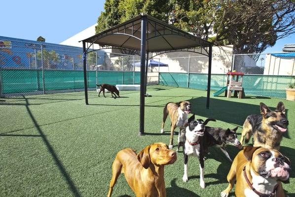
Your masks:
<path fill-rule="evenodd" d="M 138 91 L 121 91 L 122 98 L 118 99 L 112 99 L 109 93 L 107 98 L 98 98 L 92 91 L 89 105 L 85 105 L 83 92 L 0 98 L 0 197 L 107 196 L 111 164 L 119 150 L 131 147 L 140 151 L 153 142 L 169 143 L 169 118 L 166 132 L 160 134 L 167 102 L 190 100 L 197 118 L 217 119 L 209 126 L 238 126 L 240 133 L 247 115 L 259 114 L 259 102 L 276 107 L 281 100 L 212 97 L 210 109 L 205 109 L 205 91 L 149 86 L 147 92 L 152 97 L 146 98 L 145 136 L 138 135 Z M 283 102 L 290 125 L 281 152 L 295 164 L 295 102 Z M 238 152 L 233 146 L 226 149 L 232 158 Z M 189 180 L 184 183 L 183 153 L 177 153 L 175 164 L 165 166 L 167 197 L 220 196 L 227 187 L 230 163 L 219 149 L 212 148 L 210 152 L 205 161 L 204 190 L 199 186 L 198 160 L 189 158 Z M 294 181 L 292 170 L 290 184 L 284 184 L 290 197 L 295 197 Z M 124 175 L 120 175 L 113 196 L 135 196 Z"/>

